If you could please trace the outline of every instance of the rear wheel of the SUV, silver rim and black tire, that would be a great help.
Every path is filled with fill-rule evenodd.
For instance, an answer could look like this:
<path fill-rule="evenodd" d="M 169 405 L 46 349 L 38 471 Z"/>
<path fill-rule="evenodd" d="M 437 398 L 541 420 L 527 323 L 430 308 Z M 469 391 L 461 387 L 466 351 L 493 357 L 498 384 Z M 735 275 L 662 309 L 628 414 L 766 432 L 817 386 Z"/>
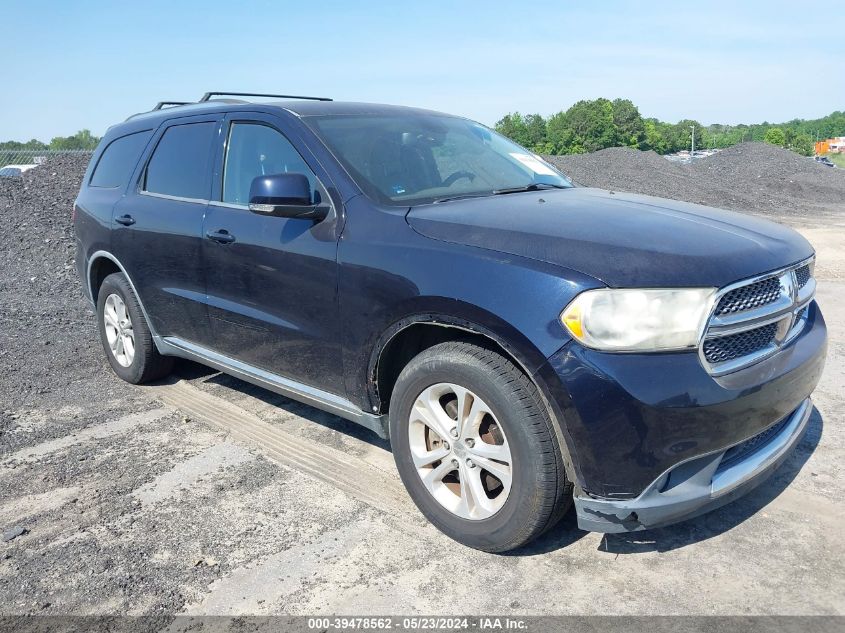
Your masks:
<path fill-rule="evenodd" d="M 116 315 L 120 318 L 116 319 Z M 126 316 L 128 320 L 123 318 Z M 116 321 L 120 322 L 118 326 Z M 173 369 L 173 358 L 158 353 L 141 304 L 123 273 L 109 275 L 100 285 L 97 325 L 109 364 L 126 382 L 138 385 L 157 380 Z M 121 343 L 116 344 L 116 339 Z M 131 348 L 129 340 L 133 343 Z"/>

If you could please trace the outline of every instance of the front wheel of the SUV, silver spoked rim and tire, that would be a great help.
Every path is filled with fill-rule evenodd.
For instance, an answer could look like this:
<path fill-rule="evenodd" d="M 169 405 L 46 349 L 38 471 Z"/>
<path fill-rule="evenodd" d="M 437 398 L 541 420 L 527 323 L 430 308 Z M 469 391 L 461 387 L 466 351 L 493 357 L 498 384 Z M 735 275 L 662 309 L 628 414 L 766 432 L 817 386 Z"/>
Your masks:
<path fill-rule="evenodd" d="M 460 395 L 462 390 L 469 394 Z M 458 408 L 468 412 L 461 431 L 449 429 L 451 442 L 434 431 L 437 426 L 445 432 L 438 404 L 456 425 Z M 429 424 L 435 414 L 437 421 Z M 393 456 L 408 493 L 429 521 L 459 543 L 487 552 L 516 549 L 551 528 L 572 503 L 572 486 L 536 386 L 494 351 L 448 342 L 421 352 L 397 379 L 389 417 Z M 425 464 L 441 455 L 447 456 Z M 441 476 L 456 462 L 454 472 Z M 493 470 L 503 478 L 491 479 Z"/>

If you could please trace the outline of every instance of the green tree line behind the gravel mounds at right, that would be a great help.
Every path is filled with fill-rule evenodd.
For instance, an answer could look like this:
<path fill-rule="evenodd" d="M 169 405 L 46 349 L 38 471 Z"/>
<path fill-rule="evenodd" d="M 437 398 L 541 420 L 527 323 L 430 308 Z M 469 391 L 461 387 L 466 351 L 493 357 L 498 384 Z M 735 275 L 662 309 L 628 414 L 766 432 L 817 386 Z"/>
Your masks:
<path fill-rule="evenodd" d="M 633 147 L 671 154 L 690 149 L 723 148 L 743 141 L 765 141 L 811 156 L 816 139 L 845 135 L 845 112 L 821 119 L 787 123 L 702 125 L 693 119 L 666 123 L 644 118 L 630 99 L 583 100 L 543 118 L 513 112 L 496 123 L 496 131 L 540 154 L 582 154 L 606 147 Z"/>

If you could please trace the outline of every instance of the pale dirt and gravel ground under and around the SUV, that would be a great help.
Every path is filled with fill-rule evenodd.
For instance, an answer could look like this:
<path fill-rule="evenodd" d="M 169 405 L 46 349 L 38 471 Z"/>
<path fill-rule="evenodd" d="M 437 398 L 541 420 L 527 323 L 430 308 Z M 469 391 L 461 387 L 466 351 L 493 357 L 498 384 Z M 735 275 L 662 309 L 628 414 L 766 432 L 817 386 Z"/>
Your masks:
<path fill-rule="evenodd" d="M 65 268 L 66 203 L 0 191 L 0 615 L 845 614 L 845 208 L 787 218 L 830 332 L 789 461 L 671 528 L 570 514 L 501 556 L 430 527 L 350 423 L 189 363 L 117 379 Z"/>

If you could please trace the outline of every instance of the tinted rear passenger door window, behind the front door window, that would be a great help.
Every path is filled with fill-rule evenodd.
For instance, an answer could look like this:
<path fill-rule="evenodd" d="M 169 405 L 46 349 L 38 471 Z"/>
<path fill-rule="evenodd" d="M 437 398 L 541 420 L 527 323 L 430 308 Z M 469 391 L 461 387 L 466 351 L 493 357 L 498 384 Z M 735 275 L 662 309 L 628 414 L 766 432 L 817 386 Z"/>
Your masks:
<path fill-rule="evenodd" d="M 209 165 L 216 123 L 186 123 L 167 128 L 153 152 L 143 189 L 177 198 L 209 198 Z"/>

